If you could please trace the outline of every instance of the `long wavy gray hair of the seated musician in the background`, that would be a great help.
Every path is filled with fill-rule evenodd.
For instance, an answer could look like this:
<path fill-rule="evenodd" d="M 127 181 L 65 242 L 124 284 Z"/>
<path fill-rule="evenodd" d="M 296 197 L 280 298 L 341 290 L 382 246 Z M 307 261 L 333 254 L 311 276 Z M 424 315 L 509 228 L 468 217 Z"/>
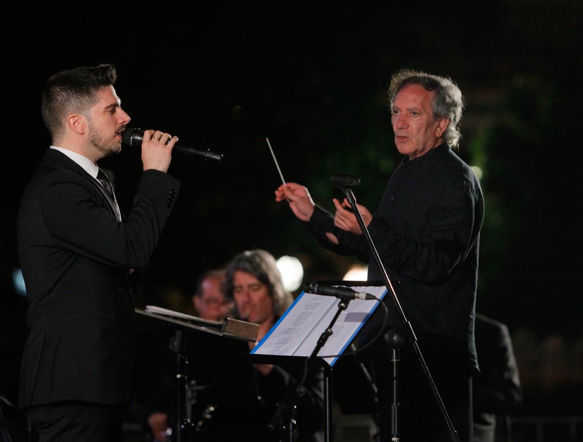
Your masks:
<path fill-rule="evenodd" d="M 235 272 L 241 271 L 255 276 L 269 288 L 273 299 L 273 309 L 276 317 L 285 313 L 293 302 L 291 293 L 283 288 L 282 275 L 275 263 L 275 258 L 265 250 L 247 250 L 234 257 L 226 268 L 224 293 L 233 298 L 233 278 Z"/>

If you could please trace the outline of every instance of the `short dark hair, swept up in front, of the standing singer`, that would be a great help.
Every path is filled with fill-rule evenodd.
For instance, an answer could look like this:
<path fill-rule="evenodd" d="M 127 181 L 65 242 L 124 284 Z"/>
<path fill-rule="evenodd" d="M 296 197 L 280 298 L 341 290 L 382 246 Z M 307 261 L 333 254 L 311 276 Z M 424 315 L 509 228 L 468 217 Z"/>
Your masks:
<path fill-rule="evenodd" d="M 43 87 L 40 111 L 52 140 L 61 135 L 66 114 L 85 113 L 97 103 L 97 92 L 113 86 L 116 79 L 114 65 L 70 69 L 51 76 Z"/>

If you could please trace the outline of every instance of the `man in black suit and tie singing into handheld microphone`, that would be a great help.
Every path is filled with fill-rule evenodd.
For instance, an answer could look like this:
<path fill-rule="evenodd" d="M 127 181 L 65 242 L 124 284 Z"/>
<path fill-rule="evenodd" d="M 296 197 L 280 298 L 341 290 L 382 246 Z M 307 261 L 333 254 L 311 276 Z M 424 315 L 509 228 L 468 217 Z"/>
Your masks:
<path fill-rule="evenodd" d="M 122 217 L 96 165 L 121 150 L 130 120 L 115 79 L 113 65 L 78 68 L 43 89 L 52 146 L 24 191 L 17 222 L 30 327 L 19 406 L 40 441 L 122 439 L 136 340 L 128 276 L 147 264 L 180 187 L 166 174 L 178 138 L 145 131 L 144 171 Z"/>

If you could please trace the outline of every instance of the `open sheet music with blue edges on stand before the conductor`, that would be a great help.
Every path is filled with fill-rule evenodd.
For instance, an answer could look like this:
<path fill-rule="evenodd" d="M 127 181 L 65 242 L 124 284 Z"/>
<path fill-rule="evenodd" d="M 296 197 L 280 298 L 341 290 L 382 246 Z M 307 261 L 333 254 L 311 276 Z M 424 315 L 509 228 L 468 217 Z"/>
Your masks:
<path fill-rule="evenodd" d="M 385 287 L 359 286 L 351 288 L 357 292 L 373 294 L 379 299 L 382 299 L 387 293 Z M 320 335 L 336 314 L 339 301 L 331 296 L 302 292 L 251 353 L 310 356 Z M 374 300 L 351 300 L 348 308 L 338 317 L 332 328 L 332 335 L 318 355 L 339 355 L 342 353 L 377 307 L 378 303 Z M 338 357 L 325 358 L 331 366 L 337 359 Z"/>

